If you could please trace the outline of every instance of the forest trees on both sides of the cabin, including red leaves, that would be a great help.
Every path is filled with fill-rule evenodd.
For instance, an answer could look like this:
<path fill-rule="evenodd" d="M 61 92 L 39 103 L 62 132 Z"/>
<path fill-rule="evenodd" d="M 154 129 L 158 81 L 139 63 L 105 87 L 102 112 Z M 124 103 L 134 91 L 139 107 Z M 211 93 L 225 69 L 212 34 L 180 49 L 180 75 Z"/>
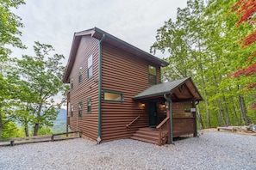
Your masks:
<path fill-rule="evenodd" d="M 9 46 L 26 48 L 19 38 L 22 18 L 10 10 L 25 2 L 0 2 L 0 137 L 53 133 L 68 90 L 61 82 L 64 56 L 36 41 L 34 56 L 10 58 Z M 151 52 L 165 53 L 170 64 L 162 81 L 192 77 L 203 95 L 200 129 L 256 123 L 255 11 L 253 0 L 189 0 L 176 21 L 158 29 Z M 57 94 L 63 94 L 59 103 L 53 100 Z"/>

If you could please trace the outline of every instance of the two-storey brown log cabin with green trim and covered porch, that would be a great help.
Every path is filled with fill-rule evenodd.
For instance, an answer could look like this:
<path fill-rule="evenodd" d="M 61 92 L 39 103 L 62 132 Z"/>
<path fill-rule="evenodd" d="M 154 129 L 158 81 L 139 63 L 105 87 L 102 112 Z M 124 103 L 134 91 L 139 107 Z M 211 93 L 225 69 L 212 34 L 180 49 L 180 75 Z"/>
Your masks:
<path fill-rule="evenodd" d="M 97 27 L 74 33 L 63 77 L 70 85 L 68 129 L 97 143 L 132 138 L 162 145 L 196 137 L 203 98 L 190 77 L 161 83 L 166 65 Z"/>

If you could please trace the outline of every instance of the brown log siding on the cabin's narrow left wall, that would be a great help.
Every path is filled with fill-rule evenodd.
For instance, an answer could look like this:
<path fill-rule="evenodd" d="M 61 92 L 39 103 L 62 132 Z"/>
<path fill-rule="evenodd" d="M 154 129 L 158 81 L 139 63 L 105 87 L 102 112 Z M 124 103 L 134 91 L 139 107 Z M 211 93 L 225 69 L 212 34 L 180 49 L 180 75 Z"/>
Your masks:
<path fill-rule="evenodd" d="M 87 58 L 93 55 L 93 76 L 87 79 Z M 78 70 L 82 66 L 82 82 L 78 83 Z M 82 131 L 86 137 L 97 140 L 98 120 L 98 39 L 82 37 L 78 46 L 76 60 L 70 77 L 73 77 L 73 89 L 70 101 L 73 105 L 73 117 L 70 118 L 71 130 Z M 87 99 L 91 98 L 91 113 L 87 113 Z M 78 102 L 82 102 L 82 118 L 78 118 Z"/>

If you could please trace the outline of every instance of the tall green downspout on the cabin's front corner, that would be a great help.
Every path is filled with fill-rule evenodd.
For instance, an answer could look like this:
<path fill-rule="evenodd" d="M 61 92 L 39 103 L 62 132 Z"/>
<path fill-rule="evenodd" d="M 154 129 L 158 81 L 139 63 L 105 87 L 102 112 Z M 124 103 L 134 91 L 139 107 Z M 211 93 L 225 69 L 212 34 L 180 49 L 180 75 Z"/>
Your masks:
<path fill-rule="evenodd" d="M 102 44 L 105 39 L 105 33 L 103 33 L 102 39 L 99 40 L 99 54 L 98 54 L 98 120 L 97 120 L 97 143 L 102 141 Z"/>

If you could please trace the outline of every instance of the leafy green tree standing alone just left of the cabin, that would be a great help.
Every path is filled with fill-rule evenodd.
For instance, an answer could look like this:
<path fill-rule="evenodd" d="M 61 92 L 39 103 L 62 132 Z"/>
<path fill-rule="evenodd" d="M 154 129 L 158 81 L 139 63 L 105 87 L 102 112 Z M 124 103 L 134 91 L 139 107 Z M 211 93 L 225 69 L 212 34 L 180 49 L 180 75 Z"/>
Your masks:
<path fill-rule="evenodd" d="M 62 104 L 53 97 L 65 90 L 61 81 L 65 67 L 60 62 L 64 57 L 59 54 L 49 57 L 53 51 L 53 46 L 35 42 L 35 56 L 25 55 L 17 61 L 21 104 L 16 117 L 25 125 L 25 130 L 28 123 L 34 126 L 34 136 L 44 125 L 53 125 Z"/>

